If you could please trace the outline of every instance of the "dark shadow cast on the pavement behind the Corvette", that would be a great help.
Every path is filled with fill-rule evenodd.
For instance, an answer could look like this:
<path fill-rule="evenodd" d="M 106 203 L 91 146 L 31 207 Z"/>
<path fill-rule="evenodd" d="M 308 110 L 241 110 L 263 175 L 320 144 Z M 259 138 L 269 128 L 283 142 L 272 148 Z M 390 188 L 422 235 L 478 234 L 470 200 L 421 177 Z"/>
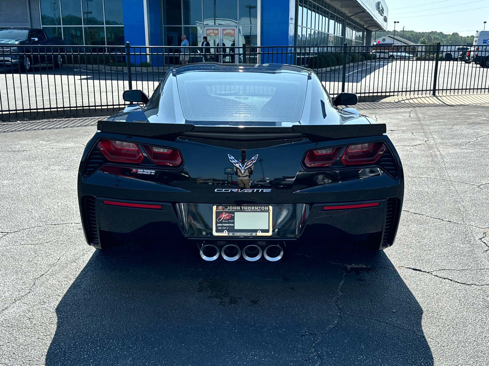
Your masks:
<path fill-rule="evenodd" d="M 56 308 L 45 364 L 433 365 L 383 252 L 205 263 L 187 249 L 96 251 Z"/>

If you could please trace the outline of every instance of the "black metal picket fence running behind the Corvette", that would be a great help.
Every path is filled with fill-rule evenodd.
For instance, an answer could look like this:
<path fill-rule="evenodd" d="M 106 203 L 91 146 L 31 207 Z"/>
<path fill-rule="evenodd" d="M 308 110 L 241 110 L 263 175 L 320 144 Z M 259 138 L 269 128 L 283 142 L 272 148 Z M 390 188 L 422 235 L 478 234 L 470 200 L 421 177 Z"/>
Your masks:
<path fill-rule="evenodd" d="M 184 51 L 184 52 L 182 52 Z M 488 69 L 467 45 L 392 46 L 0 46 L 0 119 L 112 113 L 122 93 L 151 95 L 181 63 L 286 63 L 311 68 L 332 96 L 485 93 Z M 472 53 L 472 54 L 471 54 Z M 489 53 L 488 53 L 489 55 Z M 460 61 L 459 61 L 460 60 Z M 481 60 L 480 56 L 479 59 Z M 484 62 L 481 62 L 485 64 Z"/>

